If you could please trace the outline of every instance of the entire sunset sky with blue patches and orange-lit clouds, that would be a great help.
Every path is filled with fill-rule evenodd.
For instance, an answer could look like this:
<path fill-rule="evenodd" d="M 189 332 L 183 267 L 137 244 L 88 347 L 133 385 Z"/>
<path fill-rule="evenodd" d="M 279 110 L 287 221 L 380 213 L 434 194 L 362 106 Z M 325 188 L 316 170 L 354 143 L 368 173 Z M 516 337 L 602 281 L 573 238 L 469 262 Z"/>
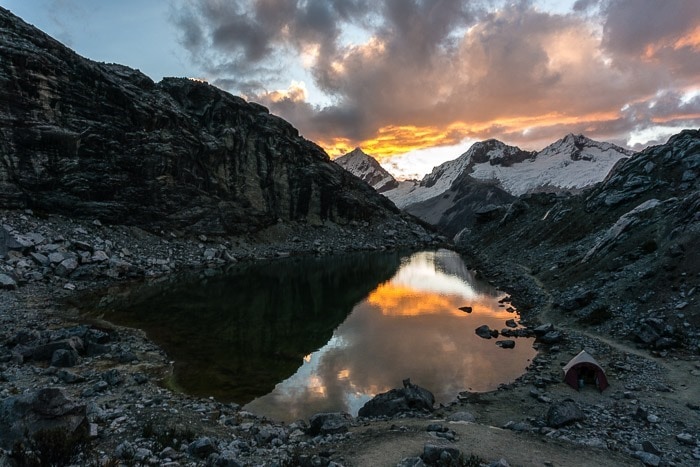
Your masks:
<path fill-rule="evenodd" d="M 421 177 L 489 138 L 700 127 L 698 0 L 0 0 L 97 61 L 204 79 Z"/>

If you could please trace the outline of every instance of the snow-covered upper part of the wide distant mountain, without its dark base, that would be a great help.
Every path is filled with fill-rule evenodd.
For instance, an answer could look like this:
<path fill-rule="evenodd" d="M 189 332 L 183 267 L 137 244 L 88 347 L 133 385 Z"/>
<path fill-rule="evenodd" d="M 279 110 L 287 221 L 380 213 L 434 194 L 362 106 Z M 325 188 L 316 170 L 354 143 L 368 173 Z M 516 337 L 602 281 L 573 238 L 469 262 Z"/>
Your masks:
<path fill-rule="evenodd" d="M 406 208 L 440 196 L 462 174 L 466 181 L 491 183 L 513 196 L 536 192 L 579 192 L 602 181 L 620 160 L 633 152 L 583 135 L 567 135 L 542 151 L 523 151 L 497 140 L 475 143 L 455 160 L 435 167 L 420 183 L 385 193 Z"/>

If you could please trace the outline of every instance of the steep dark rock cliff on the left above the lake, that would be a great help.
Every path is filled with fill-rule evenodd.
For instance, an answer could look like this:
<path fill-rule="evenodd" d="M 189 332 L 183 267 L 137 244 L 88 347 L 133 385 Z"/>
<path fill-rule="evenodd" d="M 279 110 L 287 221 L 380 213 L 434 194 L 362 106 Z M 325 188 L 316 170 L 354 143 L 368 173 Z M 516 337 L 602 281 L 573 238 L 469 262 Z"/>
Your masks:
<path fill-rule="evenodd" d="M 289 123 L 87 60 L 0 8 L 0 207 L 224 234 L 398 210 Z"/>

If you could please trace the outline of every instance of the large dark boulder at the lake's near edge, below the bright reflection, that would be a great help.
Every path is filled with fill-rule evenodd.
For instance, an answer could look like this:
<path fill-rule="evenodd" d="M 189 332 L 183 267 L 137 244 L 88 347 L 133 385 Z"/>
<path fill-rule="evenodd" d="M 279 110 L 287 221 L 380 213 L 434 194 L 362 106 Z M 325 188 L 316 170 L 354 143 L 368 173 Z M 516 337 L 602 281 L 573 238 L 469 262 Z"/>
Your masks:
<path fill-rule="evenodd" d="M 362 406 L 358 415 L 360 417 L 379 417 L 412 411 L 433 411 L 435 396 L 430 391 L 411 383 L 410 379 L 405 379 L 403 385 L 404 387 L 401 389 L 392 389 L 374 396 Z"/>

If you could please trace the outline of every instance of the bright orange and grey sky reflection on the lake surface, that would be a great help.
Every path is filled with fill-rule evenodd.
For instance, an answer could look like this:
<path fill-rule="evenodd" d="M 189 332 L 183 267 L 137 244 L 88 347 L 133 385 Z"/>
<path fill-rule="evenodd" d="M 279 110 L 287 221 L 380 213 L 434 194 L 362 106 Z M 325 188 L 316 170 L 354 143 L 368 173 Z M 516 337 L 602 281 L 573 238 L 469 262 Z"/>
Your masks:
<path fill-rule="evenodd" d="M 246 407 L 292 420 L 323 411 L 357 414 L 373 395 L 411 380 L 439 402 L 465 389 L 486 391 L 524 372 L 534 356 L 521 339 L 513 350 L 474 334 L 514 318 L 497 291 L 477 282 L 459 255 L 441 250 L 405 259 L 396 275 L 357 304 L 297 372 Z M 460 306 L 471 306 L 466 314 Z"/>

